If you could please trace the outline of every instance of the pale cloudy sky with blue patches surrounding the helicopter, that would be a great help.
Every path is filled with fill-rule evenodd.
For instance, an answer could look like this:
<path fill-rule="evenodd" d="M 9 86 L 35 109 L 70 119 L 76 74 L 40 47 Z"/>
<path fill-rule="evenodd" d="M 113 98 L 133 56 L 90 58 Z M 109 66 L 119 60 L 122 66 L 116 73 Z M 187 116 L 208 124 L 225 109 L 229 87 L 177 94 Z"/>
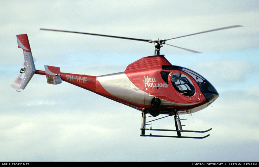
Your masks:
<path fill-rule="evenodd" d="M 10 0 L 0 16 L 0 161 L 258 161 L 259 1 Z M 28 34 L 37 70 L 99 76 L 153 55 L 154 44 L 39 29 L 157 40 L 232 25 L 244 27 L 167 41 L 202 54 L 160 52 L 219 92 L 211 106 L 180 115 L 184 130 L 212 128 L 205 139 L 140 137 L 140 111 L 42 75 L 21 92 L 10 87 L 24 62 L 18 34 Z M 174 129 L 174 119 L 152 127 Z"/>

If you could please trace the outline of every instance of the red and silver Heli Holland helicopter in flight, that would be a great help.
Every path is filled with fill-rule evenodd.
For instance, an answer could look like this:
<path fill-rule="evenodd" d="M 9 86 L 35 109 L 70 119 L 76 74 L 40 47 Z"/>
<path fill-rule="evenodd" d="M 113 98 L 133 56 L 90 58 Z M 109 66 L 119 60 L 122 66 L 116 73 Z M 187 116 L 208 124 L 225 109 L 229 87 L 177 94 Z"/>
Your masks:
<path fill-rule="evenodd" d="M 176 38 L 235 27 L 241 26 L 234 25 L 222 27 Z M 21 91 L 25 89 L 34 74 L 45 75 L 47 77 L 47 83 L 49 84 L 56 85 L 65 81 L 142 111 L 140 136 L 196 139 L 202 139 L 209 136 L 209 134 L 202 137 L 181 135 L 181 132 L 204 133 L 212 129 L 210 128 L 204 131 L 183 130 L 180 121 L 181 119 L 178 114 L 191 114 L 206 108 L 218 98 L 219 93 L 209 81 L 197 72 L 188 68 L 174 66 L 164 57 L 164 55 L 160 55 L 160 48 L 163 47 L 164 44 L 169 45 L 166 41 L 176 38 L 151 40 L 42 28 L 40 30 L 80 33 L 155 43 L 155 54 L 133 62 L 126 67 L 124 72 L 115 74 L 101 76 L 70 74 L 61 72 L 59 67 L 46 65 L 45 71 L 42 71 L 36 70 L 35 68 L 27 34 L 21 34 L 17 35 L 17 42 L 18 48 L 23 49 L 25 67 L 21 68 L 20 75 L 11 85 L 13 88 Z M 177 48 L 193 53 L 200 53 L 186 48 Z M 23 79 L 21 78 L 22 73 L 25 73 Z M 150 114 L 153 117 L 160 114 L 167 115 L 165 117 L 174 115 L 176 129 L 153 129 L 152 127 L 148 129 L 146 128 L 146 125 L 149 125 L 146 124 L 146 114 Z M 177 136 L 152 135 L 151 133 L 146 135 L 146 130 L 175 131 L 177 132 Z"/>

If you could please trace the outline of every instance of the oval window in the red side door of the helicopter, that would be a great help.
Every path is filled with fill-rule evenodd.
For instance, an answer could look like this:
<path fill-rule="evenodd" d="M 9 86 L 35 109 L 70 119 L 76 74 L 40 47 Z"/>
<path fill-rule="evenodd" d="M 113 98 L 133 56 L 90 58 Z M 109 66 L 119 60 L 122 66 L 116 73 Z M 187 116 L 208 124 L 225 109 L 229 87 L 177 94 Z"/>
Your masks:
<path fill-rule="evenodd" d="M 173 73 L 171 75 L 171 83 L 175 90 L 184 96 L 191 97 L 195 93 L 195 89 L 190 78 L 182 73 Z"/>

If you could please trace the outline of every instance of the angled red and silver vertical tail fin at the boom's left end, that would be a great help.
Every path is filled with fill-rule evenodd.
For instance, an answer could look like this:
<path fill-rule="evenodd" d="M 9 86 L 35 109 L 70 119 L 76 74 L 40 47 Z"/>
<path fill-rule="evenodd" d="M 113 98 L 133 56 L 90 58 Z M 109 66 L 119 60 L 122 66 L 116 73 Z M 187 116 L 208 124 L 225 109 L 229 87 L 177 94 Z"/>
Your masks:
<path fill-rule="evenodd" d="M 31 47 L 30 47 L 27 34 L 16 35 L 16 37 L 17 37 L 18 48 L 23 49 L 24 64 L 25 64 L 25 75 L 21 83 L 20 89 L 25 89 L 25 87 L 33 77 L 34 73 L 36 72 L 36 69 L 35 69 L 32 53 L 31 53 Z"/>

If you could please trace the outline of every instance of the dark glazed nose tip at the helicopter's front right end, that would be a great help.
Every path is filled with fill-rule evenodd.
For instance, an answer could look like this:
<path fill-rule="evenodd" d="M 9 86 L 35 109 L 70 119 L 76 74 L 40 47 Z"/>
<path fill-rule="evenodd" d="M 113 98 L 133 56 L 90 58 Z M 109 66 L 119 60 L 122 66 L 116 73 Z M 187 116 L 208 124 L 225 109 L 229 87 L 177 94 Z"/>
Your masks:
<path fill-rule="evenodd" d="M 208 103 L 211 104 L 214 100 L 216 100 L 219 97 L 219 93 L 217 90 L 214 88 L 214 86 L 205 80 L 201 85 L 200 85 L 200 90 L 207 99 Z"/>

